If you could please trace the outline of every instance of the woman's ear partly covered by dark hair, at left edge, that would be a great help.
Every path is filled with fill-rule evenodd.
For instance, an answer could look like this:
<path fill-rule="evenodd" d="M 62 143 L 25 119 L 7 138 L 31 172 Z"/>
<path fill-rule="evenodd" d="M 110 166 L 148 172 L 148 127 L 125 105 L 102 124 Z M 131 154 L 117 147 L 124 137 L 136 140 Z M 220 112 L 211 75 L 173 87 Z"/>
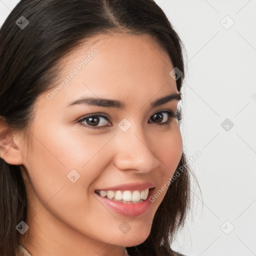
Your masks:
<path fill-rule="evenodd" d="M 9 164 L 23 164 L 18 141 L 5 120 L 0 118 L 0 157 Z"/>

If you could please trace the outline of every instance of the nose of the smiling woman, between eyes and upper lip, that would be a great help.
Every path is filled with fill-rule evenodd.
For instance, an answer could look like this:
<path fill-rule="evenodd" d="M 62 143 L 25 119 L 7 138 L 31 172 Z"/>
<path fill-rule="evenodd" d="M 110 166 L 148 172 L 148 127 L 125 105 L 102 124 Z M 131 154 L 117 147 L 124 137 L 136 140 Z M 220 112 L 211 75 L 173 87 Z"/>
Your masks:
<path fill-rule="evenodd" d="M 138 125 L 137 125 L 138 127 Z M 148 172 L 159 165 L 159 159 L 152 151 L 150 137 L 143 130 L 132 125 L 127 131 L 119 130 L 115 135 L 116 155 L 114 165 L 120 170 L 137 170 Z"/>

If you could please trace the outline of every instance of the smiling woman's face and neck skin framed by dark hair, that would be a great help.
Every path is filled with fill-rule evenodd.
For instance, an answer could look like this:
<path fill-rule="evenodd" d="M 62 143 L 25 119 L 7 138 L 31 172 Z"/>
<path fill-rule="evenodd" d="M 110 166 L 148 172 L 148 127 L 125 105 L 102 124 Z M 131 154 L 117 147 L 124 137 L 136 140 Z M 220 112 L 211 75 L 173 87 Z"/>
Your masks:
<path fill-rule="evenodd" d="M 162 125 L 168 123 L 164 111 L 175 112 L 178 100 L 151 105 L 178 93 L 168 54 L 149 35 L 97 35 L 91 42 L 61 60 L 58 81 L 36 101 L 29 152 L 22 147 L 26 247 L 33 252 L 33 244 L 40 255 L 118 255 L 142 243 L 182 153 L 177 119 Z M 118 100 L 123 107 L 91 105 L 80 100 L 85 97 Z M 142 186 L 129 187 L 134 183 Z M 137 200 L 147 187 L 154 187 L 149 195 L 160 193 L 152 202 L 148 195 L 144 202 L 118 205 L 95 193 L 117 185 L 109 197 L 117 193 L 129 201 L 137 190 Z"/>

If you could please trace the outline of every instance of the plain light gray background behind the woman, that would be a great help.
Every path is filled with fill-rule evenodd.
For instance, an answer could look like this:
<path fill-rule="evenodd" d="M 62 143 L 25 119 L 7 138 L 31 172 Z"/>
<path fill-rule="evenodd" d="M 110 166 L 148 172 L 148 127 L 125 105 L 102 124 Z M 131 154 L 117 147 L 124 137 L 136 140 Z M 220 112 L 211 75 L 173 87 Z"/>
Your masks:
<path fill-rule="evenodd" d="M 17 2 L 0 0 L 0 25 Z M 188 158 L 201 152 L 190 166 L 202 197 L 194 185 L 173 247 L 191 256 L 256 255 L 256 0 L 156 2 L 186 48 L 180 129 Z M 221 126 L 226 118 L 233 127 Z"/>

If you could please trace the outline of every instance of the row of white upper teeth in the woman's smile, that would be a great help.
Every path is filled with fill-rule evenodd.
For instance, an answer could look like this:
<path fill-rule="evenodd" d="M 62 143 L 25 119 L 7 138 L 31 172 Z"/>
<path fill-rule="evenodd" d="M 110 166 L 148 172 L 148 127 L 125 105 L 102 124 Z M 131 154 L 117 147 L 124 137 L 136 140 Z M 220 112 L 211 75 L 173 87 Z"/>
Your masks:
<path fill-rule="evenodd" d="M 113 200 L 123 200 L 123 201 L 131 201 L 131 202 L 138 202 L 145 200 L 148 196 L 149 189 L 146 188 L 145 190 L 142 191 L 130 191 L 130 190 L 125 190 L 121 192 L 120 190 L 113 191 L 113 190 L 97 190 L 96 192 L 99 192 L 100 196 L 102 197 L 107 197 L 108 199 L 113 199 Z"/>

